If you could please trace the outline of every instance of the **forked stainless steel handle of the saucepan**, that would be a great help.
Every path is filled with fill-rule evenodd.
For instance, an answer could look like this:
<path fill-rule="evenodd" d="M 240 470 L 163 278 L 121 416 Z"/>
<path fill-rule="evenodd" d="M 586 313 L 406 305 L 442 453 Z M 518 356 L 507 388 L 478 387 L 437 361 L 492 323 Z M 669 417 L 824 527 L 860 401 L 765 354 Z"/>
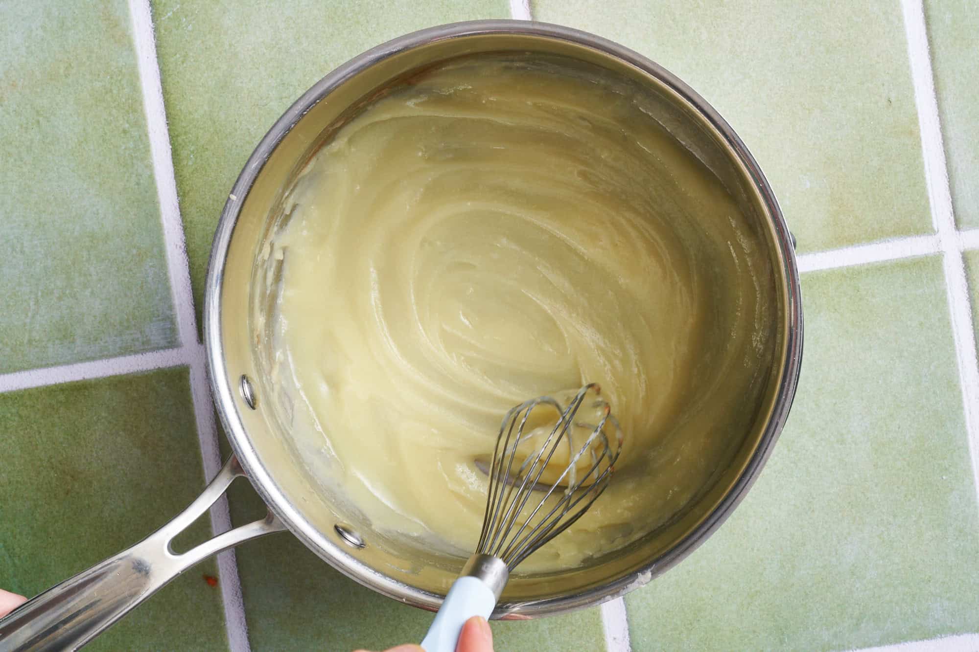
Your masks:
<path fill-rule="evenodd" d="M 173 552 L 173 537 L 186 530 L 242 475 L 245 472 L 232 455 L 207 489 L 163 528 L 52 586 L 0 619 L 0 650 L 75 650 L 210 555 L 256 536 L 285 530 L 269 513 L 260 521 L 214 536 L 187 552 Z"/>

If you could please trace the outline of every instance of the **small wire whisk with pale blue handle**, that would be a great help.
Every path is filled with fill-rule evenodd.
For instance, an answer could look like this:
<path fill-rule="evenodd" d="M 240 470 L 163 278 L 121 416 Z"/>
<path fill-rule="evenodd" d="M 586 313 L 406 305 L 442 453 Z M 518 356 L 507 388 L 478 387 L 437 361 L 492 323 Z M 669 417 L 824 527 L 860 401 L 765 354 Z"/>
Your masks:
<path fill-rule="evenodd" d="M 426 652 L 454 652 L 463 624 L 489 618 L 513 569 L 580 519 L 608 487 L 623 433 L 599 394 L 592 383 L 567 407 L 539 396 L 503 417 L 484 468 L 489 494 L 480 541 L 422 640 Z M 549 432 L 535 425 L 542 414 L 557 415 Z"/>

